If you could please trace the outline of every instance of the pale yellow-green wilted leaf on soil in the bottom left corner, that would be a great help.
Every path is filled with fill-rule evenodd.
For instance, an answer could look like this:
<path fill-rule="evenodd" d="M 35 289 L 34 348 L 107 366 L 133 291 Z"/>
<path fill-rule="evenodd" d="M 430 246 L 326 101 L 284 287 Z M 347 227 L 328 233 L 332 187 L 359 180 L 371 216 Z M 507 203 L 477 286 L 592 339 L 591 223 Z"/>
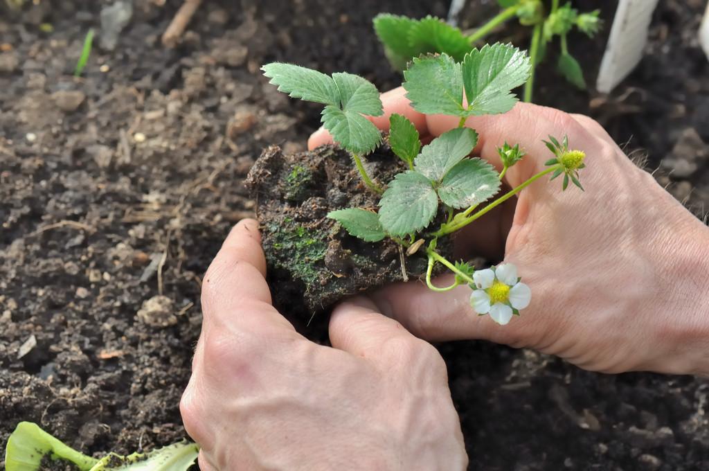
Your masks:
<path fill-rule="evenodd" d="M 37 424 L 21 422 L 11 434 L 5 452 L 7 471 L 38 471 L 49 455 L 51 460 L 74 463 L 80 471 L 186 471 L 197 459 L 195 443 L 174 443 L 150 453 L 128 456 L 108 453 L 96 460 L 69 448 Z"/>

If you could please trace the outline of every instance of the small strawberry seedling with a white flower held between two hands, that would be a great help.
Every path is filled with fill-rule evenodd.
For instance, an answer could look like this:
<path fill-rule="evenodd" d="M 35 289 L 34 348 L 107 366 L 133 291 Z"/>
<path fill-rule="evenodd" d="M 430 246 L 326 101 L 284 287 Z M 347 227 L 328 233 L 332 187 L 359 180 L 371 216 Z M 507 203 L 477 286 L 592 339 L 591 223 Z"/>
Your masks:
<path fill-rule="evenodd" d="M 584 168 L 585 155 L 581 150 L 571 150 L 566 138 L 559 143 L 549 136 L 547 146 L 554 158 L 547 162 L 547 168 L 492 201 L 501 189 L 504 174 L 523 158 L 524 151 L 519 145 L 507 143 L 498 148 L 501 172 L 480 158 L 469 157 L 478 134 L 464 126 L 466 118 L 512 109 L 517 98 L 511 91 L 529 79 L 531 69 L 532 61 L 525 52 L 499 43 L 473 48 L 460 60 L 446 53 L 415 57 L 403 74 L 403 88 L 411 106 L 420 113 L 456 116 L 459 126 L 423 145 L 413 123 L 405 116 L 392 114 L 388 141 L 393 154 L 401 160 L 401 171 L 388 182 L 379 182 L 363 164 L 367 153 L 382 140 L 376 126 L 363 116 L 383 113 L 373 84 L 351 74 L 328 76 L 297 65 L 272 63 L 263 67 L 264 74 L 281 92 L 325 104 L 323 126 L 335 143 L 350 153 L 367 189 L 379 198 L 378 211 L 345 207 L 330 211 L 327 217 L 364 242 L 391 240 L 408 256 L 423 250 L 428 260 L 425 283 L 430 289 L 442 292 L 468 285 L 473 289 L 471 305 L 475 311 L 490 314 L 501 324 L 508 323 L 530 301 L 530 289 L 520 283 L 516 268 L 503 264 L 476 271 L 465 261 L 449 260 L 437 247 L 440 240 L 545 175 L 552 174 L 553 179 L 564 174 L 563 189 L 569 179 L 581 188 L 579 170 Z M 315 235 L 313 245 L 317 241 Z M 405 263 L 402 256 L 404 272 Z M 454 273 L 450 286 L 433 284 L 432 273 L 438 264 Z"/>

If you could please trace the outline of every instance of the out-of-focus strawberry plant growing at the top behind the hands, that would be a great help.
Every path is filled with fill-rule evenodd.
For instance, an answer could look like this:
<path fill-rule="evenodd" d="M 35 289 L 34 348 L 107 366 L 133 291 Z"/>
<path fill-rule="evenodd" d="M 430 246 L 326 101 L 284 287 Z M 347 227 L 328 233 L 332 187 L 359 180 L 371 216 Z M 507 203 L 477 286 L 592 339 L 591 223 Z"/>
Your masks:
<path fill-rule="evenodd" d="M 542 0 L 498 0 L 498 4 L 502 11 L 470 34 L 432 16 L 415 20 L 389 13 L 374 18 L 374 31 L 384 45 L 391 65 L 403 69 L 413 57 L 430 52 L 445 52 L 462 60 L 474 44 L 486 38 L 497 26 L 517 18 L 520 25 L 532 29 L 529 48 L 532 69 L 525 84 L 524 100 L 532 101 L 535 68 L 544 60 L 549 43 L 557 37 L 560 48 L 557 70 L 571 84 L 586 88 L 579 61 L 569 54 L 567 36 L 574 28 L 588 37 L 596 35 L 601 28 L 599 10 L 579 13 L 571 1 L 559 6 L 559 0 L 552 0 L 548 10 Z"/>

